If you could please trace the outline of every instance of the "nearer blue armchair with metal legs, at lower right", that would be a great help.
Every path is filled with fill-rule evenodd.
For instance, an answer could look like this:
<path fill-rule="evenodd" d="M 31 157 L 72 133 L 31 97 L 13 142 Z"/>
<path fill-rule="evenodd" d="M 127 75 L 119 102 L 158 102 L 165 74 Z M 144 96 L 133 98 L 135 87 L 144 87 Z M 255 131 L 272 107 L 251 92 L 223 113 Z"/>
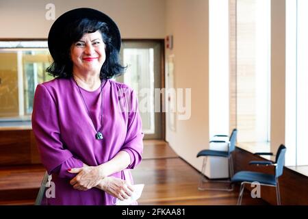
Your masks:
<path fill-rule="evenodd" d="M 274 166 L 275 173 L 274 175 L 266 174 L 263 172 L 253 172 L 253 171 L 240 171 L 237 172 L 231 179 L 232 183 L 241 183 L 240 194 L 238 197 L 238 205 L 242 203 L 242 197 L 244 194 L 244 185 L 251 183 L 259 183 L 259 185 L 273 186 L 276 188 L 277 195 L 277 205 L 281 205 L 281 196 L 279 190 L 278 178 L 283 175 L 283 165 L 285 164 L 285 151 L 287 149 L 283 144 L 279 146 L 277 151 L 275 162 L 271 161 L 253 161 L 249 162 L 251 165 L 262 165 L 262 166 Z M 272 153 L 255 153 L 257 155 L 272 155 Z"/>

